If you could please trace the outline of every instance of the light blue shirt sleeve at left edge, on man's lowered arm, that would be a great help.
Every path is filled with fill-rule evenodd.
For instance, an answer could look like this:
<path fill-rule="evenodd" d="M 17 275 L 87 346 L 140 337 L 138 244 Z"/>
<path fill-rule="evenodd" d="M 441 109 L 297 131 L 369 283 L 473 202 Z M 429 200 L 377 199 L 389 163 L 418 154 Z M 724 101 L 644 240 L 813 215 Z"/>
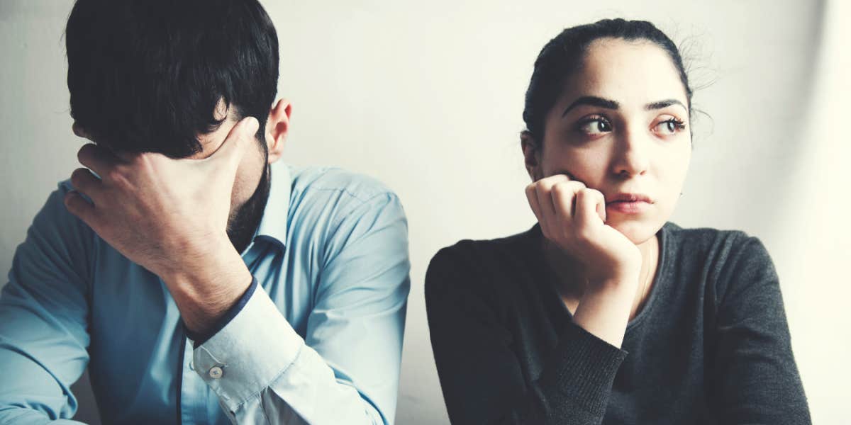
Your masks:
<path fill-rule="evenodd" d="M 79 423 L 71 383 L 89 362 L 94 234 L 50 195 L 14 254 L 0 295 L 0 423 Z"/>

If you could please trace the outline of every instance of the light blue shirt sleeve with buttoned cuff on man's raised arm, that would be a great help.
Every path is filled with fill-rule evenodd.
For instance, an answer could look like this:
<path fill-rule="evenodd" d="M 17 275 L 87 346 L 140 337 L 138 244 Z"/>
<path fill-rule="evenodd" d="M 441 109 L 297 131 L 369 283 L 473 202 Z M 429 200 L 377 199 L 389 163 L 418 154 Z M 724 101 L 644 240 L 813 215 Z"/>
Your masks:
<path fill-rule="evenodd" d="M 329 236 L 306 337 L 258 286 L 193 351 L 195 370 L 235 423 L 393 422 L 410 286 L 408 224 L 378 195 Z"/>

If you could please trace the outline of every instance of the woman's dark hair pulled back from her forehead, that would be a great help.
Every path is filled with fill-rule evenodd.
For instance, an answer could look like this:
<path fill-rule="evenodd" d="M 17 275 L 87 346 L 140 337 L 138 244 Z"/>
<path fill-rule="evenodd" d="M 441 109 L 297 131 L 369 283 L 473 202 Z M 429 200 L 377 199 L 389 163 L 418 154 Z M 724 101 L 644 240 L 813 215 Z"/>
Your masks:
<path fill-rule="evenodd" d="M 600 38 L 620 38 L 627 41 L 646 40 L 664 49 L 677 67 L 680 80 L 686 90 L 688 112 L 691 115 L 692 89 L 683 67 L 679 49 L 664 32 L 645 20 L 598 20 L 593 24 L 568 28 L 547 42 L 534 62 L 532 79 L 526 90 L 526 105 L 523 121 L 526 122 L 524 136 L 531 136 L 536 143 L 544 139 L 544 119 L 563 93 L 564 83 L 574 71 L 582 66 L 588 46 Z"/>

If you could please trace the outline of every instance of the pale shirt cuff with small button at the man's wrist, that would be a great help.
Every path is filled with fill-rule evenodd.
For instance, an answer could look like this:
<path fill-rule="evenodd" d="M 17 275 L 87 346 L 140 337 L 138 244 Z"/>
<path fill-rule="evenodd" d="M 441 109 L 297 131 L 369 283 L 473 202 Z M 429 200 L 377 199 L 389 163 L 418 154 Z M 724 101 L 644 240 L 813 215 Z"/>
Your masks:
<path fill-rule="evenodd" d="M 304 339 L 260 286 L 226 326 L 195 345 L 192 361 L 222 405 L 237 411 L 286 371 L 304 346 Z"/>

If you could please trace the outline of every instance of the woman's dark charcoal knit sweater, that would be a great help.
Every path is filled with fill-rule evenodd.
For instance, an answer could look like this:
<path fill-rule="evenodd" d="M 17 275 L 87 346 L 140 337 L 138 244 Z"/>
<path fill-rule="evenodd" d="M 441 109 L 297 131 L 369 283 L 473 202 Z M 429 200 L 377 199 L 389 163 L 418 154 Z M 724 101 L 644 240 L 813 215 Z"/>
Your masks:
<path fill-rule="evenodd" d="M 538 226 L 437 252 L 426 307 L 452 422 L 810 423 L 762 243 L 671 223 L 658 235 L 622 349 L 573 323 Z"/>

